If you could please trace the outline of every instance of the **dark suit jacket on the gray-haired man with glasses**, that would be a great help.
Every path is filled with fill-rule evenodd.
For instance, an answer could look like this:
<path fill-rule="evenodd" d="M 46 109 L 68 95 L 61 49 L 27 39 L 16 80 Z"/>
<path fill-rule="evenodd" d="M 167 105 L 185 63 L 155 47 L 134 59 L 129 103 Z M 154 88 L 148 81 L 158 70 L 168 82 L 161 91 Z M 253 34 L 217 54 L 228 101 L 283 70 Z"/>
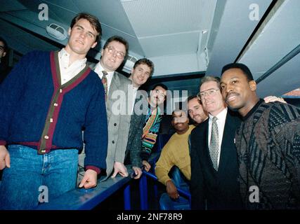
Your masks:
<path fill-rule="evenodd" d="M 238 165 L 235 148 L 235 130 L 240 118 L 228 109 L 221 144 L 218 172 L 214 169 L 209 155 L 209 120 L 201 123 L 190 135 L 191 141 L 191 185 L 192 209 L 242 209 Z"/>

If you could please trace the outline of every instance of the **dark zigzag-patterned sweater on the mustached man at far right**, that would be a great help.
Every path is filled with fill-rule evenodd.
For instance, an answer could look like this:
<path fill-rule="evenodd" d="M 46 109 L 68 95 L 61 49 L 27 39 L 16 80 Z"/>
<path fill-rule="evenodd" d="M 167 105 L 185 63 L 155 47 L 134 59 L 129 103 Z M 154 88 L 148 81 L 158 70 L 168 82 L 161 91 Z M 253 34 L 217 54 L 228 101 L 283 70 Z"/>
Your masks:
<path fill-rule="evenodd" d="M 246 208 L 300 209 L 300 109 L 261 99 L 235 140 Z"/>

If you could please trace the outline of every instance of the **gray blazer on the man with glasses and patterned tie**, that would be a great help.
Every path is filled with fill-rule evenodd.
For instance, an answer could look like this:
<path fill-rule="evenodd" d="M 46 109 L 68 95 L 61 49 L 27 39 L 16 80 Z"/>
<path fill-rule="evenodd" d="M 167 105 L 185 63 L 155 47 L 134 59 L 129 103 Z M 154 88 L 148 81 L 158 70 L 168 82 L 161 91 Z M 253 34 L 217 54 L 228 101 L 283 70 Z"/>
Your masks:
<path fill-rule="evenodd" d="M 94 69 L 95 66 L 96 64 L 91 64 L 90 67 Z M 108 127 L 107 177 L 112 174 L 115 161 L 123 163 L 125 158 L 131 120 L 128 113 L 128 85 L 131 85 L 131 80 L 115 71 L 106 101 Z M 113 113 L 116 110 L 121 111 L 121 114 Z"/>

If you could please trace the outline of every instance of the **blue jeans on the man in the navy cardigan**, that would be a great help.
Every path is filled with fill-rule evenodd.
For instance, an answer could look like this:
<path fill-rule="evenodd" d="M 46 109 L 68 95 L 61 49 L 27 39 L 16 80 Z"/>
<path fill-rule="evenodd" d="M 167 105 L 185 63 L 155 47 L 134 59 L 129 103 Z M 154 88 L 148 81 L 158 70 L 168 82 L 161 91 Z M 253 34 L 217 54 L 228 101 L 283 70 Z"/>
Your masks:
<path fill-rule="evenodd" d="M 4 169 L 2 176 L 0 209 L 34 209 L 47 197 L 51 202 L 76 187 L 77 149 L 39 155 L 34 148 L 12 145 L 8 151 L 11 168 Z"/>

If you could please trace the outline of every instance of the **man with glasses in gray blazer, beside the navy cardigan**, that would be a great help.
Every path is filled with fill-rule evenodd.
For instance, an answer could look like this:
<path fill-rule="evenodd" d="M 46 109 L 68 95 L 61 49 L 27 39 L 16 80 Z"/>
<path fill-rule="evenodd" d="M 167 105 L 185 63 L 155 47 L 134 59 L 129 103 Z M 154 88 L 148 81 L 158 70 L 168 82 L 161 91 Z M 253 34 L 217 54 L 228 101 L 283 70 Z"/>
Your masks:
<path fill-rule="evenodd" d="M 124 156 L 129 135 L 129 125 L 131 116 L 126 113 L 126 99 L 128 99 L 128 85 L 131 81 L 118 73 L 116 70 L 124 62 L 129 49 L 129 44 L 121 36 L 112 36 L 107 39 L 103 49 L 101 50 L 101 59 L 96 66 L 91 66 L 99 78 L 103 80 L 105 76 L 107 80 L 106 92 L 106 111 L 108 124 L 108 148 L 106 158 L 106 176 L 109 177 L 114 170 L 112 177 L 117 174 L 128 176 L 126 167 L 124 166 Z M 120 95 L 114 94 L 122 93 Z M 118 107 L 116 108 L 116 105 Z M 115 111 L 117 109 L 118 111 Z"/>

